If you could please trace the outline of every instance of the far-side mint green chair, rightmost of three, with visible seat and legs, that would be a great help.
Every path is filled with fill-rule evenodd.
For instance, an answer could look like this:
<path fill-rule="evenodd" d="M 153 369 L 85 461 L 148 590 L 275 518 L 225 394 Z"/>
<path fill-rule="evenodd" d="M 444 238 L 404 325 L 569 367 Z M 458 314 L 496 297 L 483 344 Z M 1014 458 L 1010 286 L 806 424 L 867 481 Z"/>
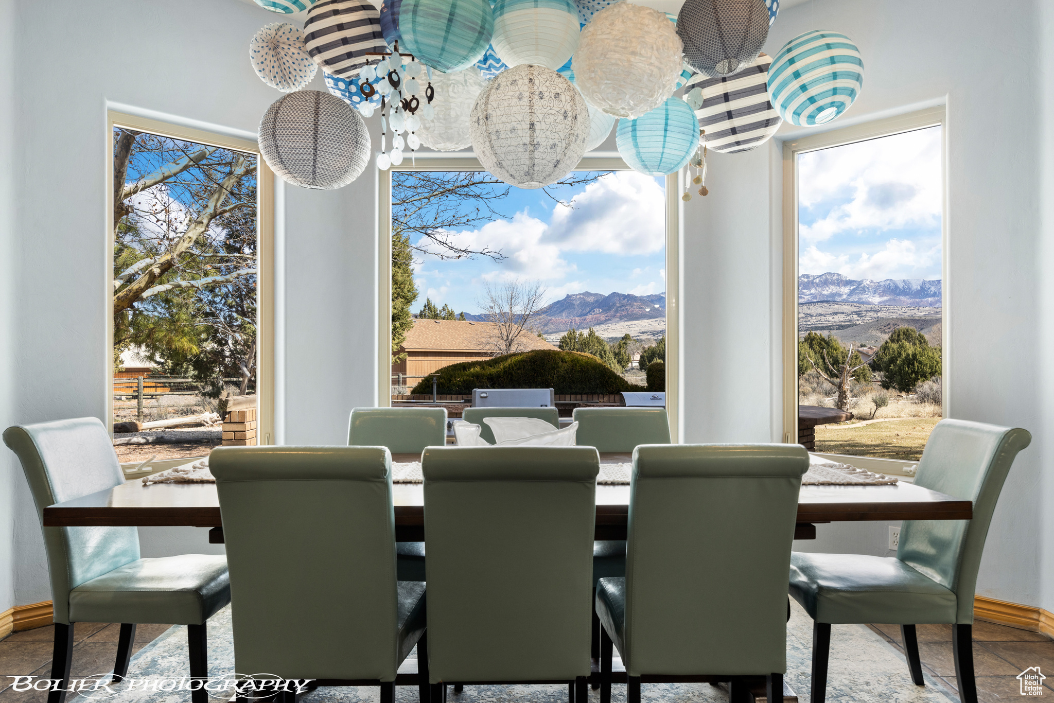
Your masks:
<path fill-rule="evenodd" d="M 571 416 L 579 424 L 574 434 L 579 446 L 599 452 L 631 452 L 640 445 L 669 444 L 669 419 L 665 408 L 575 408 Z M 593 544 L 593 584 L 608 577 L 626 575 L 625 540 L 604 540 Z M 593 612 L 592 657 L 600 659 L 600 620 Z M 591 679 L 600 686 L 600 677 Z"/>

